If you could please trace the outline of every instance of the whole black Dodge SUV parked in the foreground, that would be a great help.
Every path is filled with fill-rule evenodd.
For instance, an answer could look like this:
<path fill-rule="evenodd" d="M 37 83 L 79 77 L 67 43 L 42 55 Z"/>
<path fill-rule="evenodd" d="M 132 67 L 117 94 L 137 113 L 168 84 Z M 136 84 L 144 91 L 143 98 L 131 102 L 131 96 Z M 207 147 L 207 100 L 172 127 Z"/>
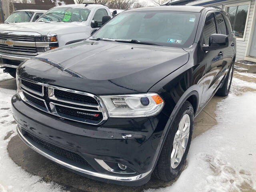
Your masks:
<path fill-rule="evenodd" d="M 20 64 L 18 135 L 89 178 L 145 184 L 175 178 L 194 117 L 230 90 L 236 39 L 218 8 L 127 10 L 90 38 Z"/>

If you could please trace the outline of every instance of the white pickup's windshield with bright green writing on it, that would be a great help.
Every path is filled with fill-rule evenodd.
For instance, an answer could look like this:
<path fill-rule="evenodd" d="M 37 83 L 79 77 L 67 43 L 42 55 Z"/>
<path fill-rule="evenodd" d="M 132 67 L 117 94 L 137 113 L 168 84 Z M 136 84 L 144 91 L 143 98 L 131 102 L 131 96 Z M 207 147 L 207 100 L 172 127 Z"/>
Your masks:
<path fill-rule="evenodd" d="M 52 8 L 40 17 L 37 22 L 82 22 L 86 21 L 90 10 L 86 8 Z"/>

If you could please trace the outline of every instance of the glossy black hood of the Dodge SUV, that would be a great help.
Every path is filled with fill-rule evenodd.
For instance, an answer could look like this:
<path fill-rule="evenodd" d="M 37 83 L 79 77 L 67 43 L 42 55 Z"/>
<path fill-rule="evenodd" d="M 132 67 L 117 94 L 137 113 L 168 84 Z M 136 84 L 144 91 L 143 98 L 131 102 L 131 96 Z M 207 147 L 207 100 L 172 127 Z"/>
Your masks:
<path fill-rule="evenodd" d="M 147 92 L 188 62 L 188 52 L 142 44 L 89 41 L 40 54 L 18 70 L 36 81 L 93 94 Z"/>

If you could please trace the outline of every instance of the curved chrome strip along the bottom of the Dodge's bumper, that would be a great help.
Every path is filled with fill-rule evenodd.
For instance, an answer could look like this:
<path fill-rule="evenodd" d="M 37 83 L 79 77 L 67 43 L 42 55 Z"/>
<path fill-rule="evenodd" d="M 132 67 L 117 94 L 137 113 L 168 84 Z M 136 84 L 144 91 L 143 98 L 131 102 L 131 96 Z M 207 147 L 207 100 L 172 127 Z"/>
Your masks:
<path fill-rule="evenodd" d="M 102 174 L 102 173 L 98 173 L 98 172 L 92 172 L 89 170 L 85 170 L 79 167 L 76 167 L 74 165 L 68 164 L 67 162 L 64 162 L 58 158 L 55 158 L 54 156 L 51 156 L 50 154 L 47 153 L 47 149 L 40 146 L 39 144 L 37 144 L 36 142 L 33 142 L 33 140 L 30 140 L 30 138 L 26 138 L 26 135 L 24 136 L 21 132 L 21 128 L 18 125 L 17 126 L 17 132 L 18 132 L 18 136 L 20 136 L 20 139 L 27 144 L 30 148 L 32 148 L 33 150 L 35 150 L 36 152 L 38 152 L 39 154 L 45 156 L 46 158 L 66 167 L 66 168 L 70 168 L 72 170 L 75 170 L 77 172 L 83 173 L 83 174 L 87 174 L 90 176 L 94 176 L 94 177 L 98 177 L 98 178 L 103 178 L 103 179 L 107 179 L 107 180 L 115 180 L 115 181 L 125 181 L 125 182 L 133 182 L 133 181 L 138 181 L 141 180 L 142 178 L 148 176 L 148 174 L 150 174 L 150 171 L 143 173 L 143 174 L 139 174 L 139 175 L 135 175 L 135 176 L 114 176 L 114 175 L 108 175 L 108 174 Z"/>

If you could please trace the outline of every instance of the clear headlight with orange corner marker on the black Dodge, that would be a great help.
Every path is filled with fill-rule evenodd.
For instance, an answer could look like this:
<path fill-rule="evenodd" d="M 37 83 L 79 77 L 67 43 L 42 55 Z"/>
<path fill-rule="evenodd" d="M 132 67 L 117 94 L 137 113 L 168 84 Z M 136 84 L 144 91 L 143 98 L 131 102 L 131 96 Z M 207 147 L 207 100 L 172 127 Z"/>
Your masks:
<path fill-rule="evenodd" d="M 158 114 L 164 101 L 156 93 L 100 96 L 109 117 L 148 117 Z"/>

